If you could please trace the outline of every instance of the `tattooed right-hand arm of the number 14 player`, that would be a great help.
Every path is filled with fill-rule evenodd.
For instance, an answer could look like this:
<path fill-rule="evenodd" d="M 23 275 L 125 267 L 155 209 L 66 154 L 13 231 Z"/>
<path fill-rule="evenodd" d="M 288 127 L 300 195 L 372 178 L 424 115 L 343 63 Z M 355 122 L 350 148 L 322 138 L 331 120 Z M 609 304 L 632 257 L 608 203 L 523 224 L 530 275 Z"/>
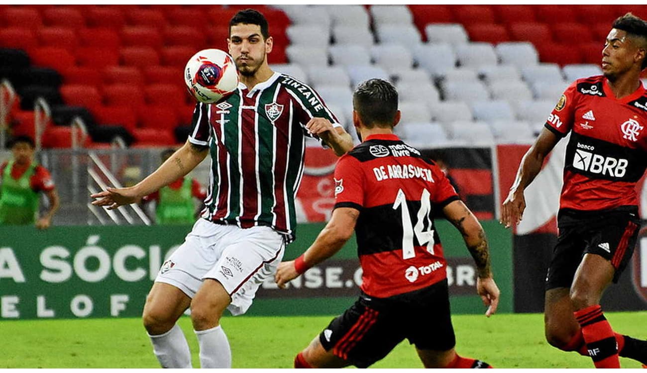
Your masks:
<path fill-rule="evenodd" d="M 444 215 L 463 235 L 463 240 L 476 262 L 476 291 L 483 304 L 488 307 L 485 315 L 490 317 L 496 312 L 499 304 L 499 288 L 492 278 L 490 269 L 490 251 L 485 231 L 472 211 L 463 201 L 455 200 L 443 208 Z"/>

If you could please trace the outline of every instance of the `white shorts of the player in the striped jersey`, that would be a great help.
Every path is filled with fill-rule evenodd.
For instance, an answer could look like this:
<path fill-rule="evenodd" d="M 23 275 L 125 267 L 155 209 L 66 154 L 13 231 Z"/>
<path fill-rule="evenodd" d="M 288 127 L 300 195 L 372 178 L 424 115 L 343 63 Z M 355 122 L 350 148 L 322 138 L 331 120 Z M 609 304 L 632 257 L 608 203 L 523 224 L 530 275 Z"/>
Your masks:
<path fill-rule="evenodd" d="M 201 218 L 162 264 L 155 281 L 171 284 L 193 298 L 204 279 L 215 279 L 232 297 L 228 310 L 242 315 L 260 284 L 274 275 L 284 252 L 285 239 L 272 228 L 242 229 Z"/>

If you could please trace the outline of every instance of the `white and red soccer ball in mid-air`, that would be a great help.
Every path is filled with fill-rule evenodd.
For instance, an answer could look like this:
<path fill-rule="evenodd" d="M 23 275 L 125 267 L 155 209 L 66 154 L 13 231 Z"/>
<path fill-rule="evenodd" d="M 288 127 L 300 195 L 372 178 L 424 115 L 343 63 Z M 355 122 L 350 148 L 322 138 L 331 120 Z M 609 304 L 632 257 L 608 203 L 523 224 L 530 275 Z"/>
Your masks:
<path fill-rule="evenodd" d="M 204 49 L 193 55 L 184 68 L 184 83 L 195 100 L 214 103 L 238 86 L 234 59 L 219 49 Z"/>

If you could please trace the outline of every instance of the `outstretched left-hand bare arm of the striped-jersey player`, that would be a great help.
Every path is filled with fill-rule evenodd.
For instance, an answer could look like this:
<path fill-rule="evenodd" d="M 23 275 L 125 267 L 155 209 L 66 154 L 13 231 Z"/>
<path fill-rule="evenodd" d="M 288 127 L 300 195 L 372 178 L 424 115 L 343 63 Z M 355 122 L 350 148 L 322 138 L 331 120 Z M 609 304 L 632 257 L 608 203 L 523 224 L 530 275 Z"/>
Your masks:
<path fill-rule="evenodd" d="M 108 209 L 116 209 L 122 205 L 139 202 L 145 195 L 149 195 L 160 189 L 160 187 L 167 186 L 188 174 L 204 160 L 209 153 L 208 150 L 208 147 L 195 145 L 187 141 L 155 172 L 135 186 L 118 189 L 108 188 L 106 191 L 94 193 L 90 197 L 97 199 L 92 204 L 94 206 L 108 206 Z"/>

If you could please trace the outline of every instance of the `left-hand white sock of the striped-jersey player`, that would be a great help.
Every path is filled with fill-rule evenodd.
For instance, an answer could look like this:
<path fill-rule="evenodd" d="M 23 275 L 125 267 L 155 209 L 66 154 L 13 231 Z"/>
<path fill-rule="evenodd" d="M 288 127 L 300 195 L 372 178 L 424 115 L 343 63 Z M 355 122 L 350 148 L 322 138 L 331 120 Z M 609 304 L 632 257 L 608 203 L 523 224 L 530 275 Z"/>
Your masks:
<path fill-rule="evenodd" d="M 164 334 L 151 336 L 153 354 L 162 368 L 193 368 L 191 366 L 191 351 L 182 329 L 177 324 Z"/>

